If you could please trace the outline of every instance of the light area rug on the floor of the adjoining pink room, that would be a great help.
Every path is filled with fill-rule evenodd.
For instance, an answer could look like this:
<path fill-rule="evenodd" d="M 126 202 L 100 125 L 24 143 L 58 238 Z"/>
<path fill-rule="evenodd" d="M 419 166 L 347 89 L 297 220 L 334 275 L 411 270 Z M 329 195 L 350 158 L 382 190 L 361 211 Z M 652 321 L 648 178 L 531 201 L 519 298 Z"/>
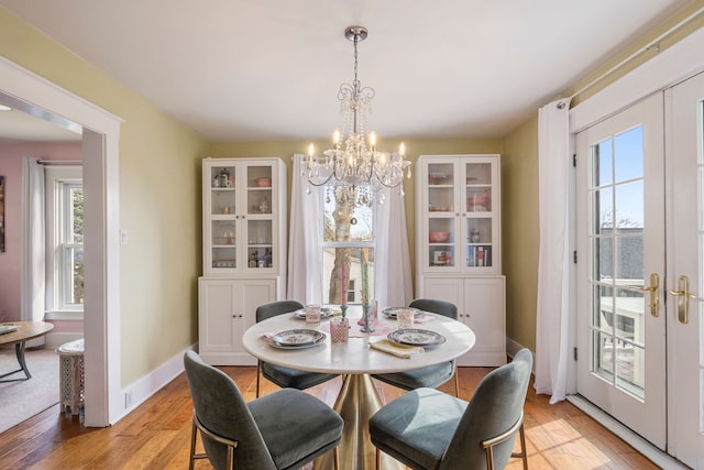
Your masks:
<path fill-rule="evenodd" d="M 32 378 L 0 383 L 0 433 L 58 403 L 56 352 L 53 349 L 28 350 L 24 357 Z M 14 347 L 0 349 L 0 375 L 19 368 Z M 24 372 L 4 379 L 22 376 Z"/>

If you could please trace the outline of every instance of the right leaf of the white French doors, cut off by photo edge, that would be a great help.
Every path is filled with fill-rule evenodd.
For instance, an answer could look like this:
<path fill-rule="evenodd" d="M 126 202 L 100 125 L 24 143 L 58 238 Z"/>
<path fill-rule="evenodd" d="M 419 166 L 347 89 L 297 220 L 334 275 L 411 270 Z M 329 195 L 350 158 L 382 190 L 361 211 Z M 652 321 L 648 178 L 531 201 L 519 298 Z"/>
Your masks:
<path fill-rule="evenodd" d="M 704 468 L 704 74 L 666 91 L 668 451 Z"/>

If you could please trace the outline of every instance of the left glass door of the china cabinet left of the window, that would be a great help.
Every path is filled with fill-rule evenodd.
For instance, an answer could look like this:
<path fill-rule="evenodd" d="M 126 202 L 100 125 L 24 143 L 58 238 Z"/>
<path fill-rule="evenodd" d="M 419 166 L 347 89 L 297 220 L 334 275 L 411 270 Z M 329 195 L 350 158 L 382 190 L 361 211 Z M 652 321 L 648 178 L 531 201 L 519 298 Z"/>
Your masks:
<path fill-rule="evenodd" d="M 213 270 L 237 267 L 235 167 L 210 167 L 210 260 Z"/>

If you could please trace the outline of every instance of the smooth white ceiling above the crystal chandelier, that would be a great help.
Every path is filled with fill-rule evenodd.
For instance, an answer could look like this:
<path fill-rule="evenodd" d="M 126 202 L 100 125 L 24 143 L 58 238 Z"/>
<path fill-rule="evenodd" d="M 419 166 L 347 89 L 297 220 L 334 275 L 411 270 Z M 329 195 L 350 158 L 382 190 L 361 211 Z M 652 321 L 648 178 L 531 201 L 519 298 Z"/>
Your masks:
<path fill-rule="evenodd" d="M 0 7 L 209 141 L 261 141 L 326 139 L 341 125 L 338 88 L 353 78 L 349 25 L 369 29 L 359 78 L 376 90 L 371 127 L 381 140 L 499 138 L 690 2 L 0 0 Z"/>

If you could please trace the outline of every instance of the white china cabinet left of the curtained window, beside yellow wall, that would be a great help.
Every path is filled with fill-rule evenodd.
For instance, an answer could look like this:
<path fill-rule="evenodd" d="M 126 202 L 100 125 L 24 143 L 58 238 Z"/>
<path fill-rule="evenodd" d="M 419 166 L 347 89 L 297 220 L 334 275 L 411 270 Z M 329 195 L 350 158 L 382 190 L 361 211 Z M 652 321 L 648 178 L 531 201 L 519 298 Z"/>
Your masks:
<path fill-rule="evenodd" d="M 258 305 L 284 296 L 286 186 L 280 159 L 202 161 L 198 337 L 208 363 L 255 363 L 241 338 Z"/>

